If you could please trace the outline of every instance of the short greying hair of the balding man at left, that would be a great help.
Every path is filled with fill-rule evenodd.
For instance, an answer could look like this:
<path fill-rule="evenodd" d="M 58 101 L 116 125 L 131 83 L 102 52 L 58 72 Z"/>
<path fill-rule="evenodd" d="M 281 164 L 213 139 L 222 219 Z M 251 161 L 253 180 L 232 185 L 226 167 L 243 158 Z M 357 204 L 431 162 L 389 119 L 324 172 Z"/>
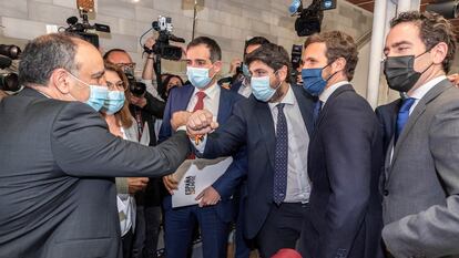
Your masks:
<path fill-rule="evenodd" d="M 19 83 L 24 86 L 29 84 L 47 85 L 55 69 L 65 69 L 78 75 L 76 39 L 80 38 L 64 33 L 52 33 L 40 35 L 30 41 L 19 62 Z"/>

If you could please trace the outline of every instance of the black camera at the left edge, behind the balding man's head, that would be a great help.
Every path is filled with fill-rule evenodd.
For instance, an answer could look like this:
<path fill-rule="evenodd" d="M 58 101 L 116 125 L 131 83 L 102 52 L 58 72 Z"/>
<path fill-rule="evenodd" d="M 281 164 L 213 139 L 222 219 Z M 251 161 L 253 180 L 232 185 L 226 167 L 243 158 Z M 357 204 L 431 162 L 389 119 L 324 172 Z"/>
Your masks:
<path fill-rule="evenodd" d="M 12 69 L 12 61 L 19 59 L 20 55 L 21 49 L 18 45 L 0 44 L 0 90 L 18 92 L 21 89 L 18 73 Z"/>

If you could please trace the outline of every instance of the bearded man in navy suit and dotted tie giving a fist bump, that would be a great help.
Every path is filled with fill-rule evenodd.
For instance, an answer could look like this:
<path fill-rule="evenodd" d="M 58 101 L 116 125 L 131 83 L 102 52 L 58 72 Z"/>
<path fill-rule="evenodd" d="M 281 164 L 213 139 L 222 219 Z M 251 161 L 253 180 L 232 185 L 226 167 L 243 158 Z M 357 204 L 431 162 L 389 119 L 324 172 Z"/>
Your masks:
<path fill-rule="evenodd" d="M 254 238 L 261 256 L 267 258 L 282 248 L 296 247 L 308 213 L 306 159 L 314 102 L 303 89 L 289 84 L 292 66 L 284 48 L 264 44 L 245 61 L 253 96 L 237 103 L 226 124 L 195 145 L 208 158 L 246 145 L 245 236 Z M 208 111 L 194 113 L 188 133 L 216 127 L 208 117 Z"/>

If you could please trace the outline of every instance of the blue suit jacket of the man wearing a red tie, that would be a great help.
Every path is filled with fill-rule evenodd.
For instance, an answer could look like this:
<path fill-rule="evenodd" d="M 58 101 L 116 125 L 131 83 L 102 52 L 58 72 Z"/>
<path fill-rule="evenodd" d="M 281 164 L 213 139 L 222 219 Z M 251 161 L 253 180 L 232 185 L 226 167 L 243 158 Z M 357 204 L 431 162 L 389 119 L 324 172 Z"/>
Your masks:
<path fill-rule="evenodd" d="M 218 86 L 218 85 L 215 85 Z M 193 97 L 194 86 L 191 84 L 184 85 L 182 87 L 174 87 L 171 90 L 166 109 L 164 112 L 164 120 L 160 131 L 160 142 L 165 141 L 171 136 L 171 116 L 177 111 L 186 111 L 190 100 Z M 231 92 L 221 87 L 220 94 L 220 104 L 218 104 L 218 115 L 217 122 L 221 125 L 224 125 L 227 118 L 230 117 L 232 110 L 236 102 L 243 100 L 244 97 L 237 93 Z M 244 149 L 236 152 L 233 155 L 234 162 L 227 168 L 227 171 L 212 185 L 216 192 L 222 197 L 222 200 L 216 205 L 216 210 L 218 217 L 223 221 L 231 221 L 233 219 L 234 204 L 232 196 L 235 193 L 235 189 L 241 185 L 241 182 L 246 174 L 246 153 Z M 172 208 L 171 198 L 167 197 L 165 202 L 165 208 Z"/>

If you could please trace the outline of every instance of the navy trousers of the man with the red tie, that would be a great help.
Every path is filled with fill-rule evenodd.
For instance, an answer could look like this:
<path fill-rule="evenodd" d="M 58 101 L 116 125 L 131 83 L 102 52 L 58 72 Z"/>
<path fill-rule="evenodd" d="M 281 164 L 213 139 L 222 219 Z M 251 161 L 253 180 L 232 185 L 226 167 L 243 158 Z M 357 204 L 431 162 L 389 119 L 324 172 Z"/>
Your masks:
<path fill-rule="evenodd" d="M 167 258 L 184 258 L 192 245 L 195 221 L 201 227 L 204 258 L 226 258 L 230 223 L 218 218 L 216 206 L 197 205 L 164 210 Z"/>

